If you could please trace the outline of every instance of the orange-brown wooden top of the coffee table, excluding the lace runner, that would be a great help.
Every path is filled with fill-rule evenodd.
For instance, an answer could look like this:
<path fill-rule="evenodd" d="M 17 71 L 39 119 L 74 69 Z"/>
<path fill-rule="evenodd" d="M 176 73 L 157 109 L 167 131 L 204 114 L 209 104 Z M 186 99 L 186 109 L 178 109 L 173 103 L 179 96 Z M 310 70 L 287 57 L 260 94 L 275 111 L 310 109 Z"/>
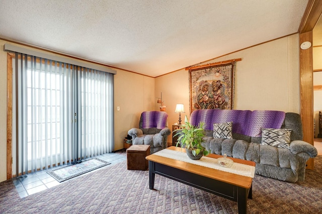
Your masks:
<path fill-rule="evenodd" d="M 182 150 L 182 152 L 186 152 L 186 150 L 184 148 L 182 149 L 180 147 L 175 147 L 175 146 L 168 147 L 167 149 L 171 149 L 171 150 L 175 150 L 175 151 Z M 222 155 L 209 154 L 209 155 L 207 155 L 207 157 L 219 158 L 219 157 L 222 157 Z M 246 164 L 246 165 L 250 165 L 250 166 L 256 165 L 255 162 L 249 161 L 249 160 L 241 160 L 241 159 L 231 158 L 231 157 L 227 157 L 227 158 L 232 159 L 236 163 Z M 171 159 L 171 158 L 167 158 L 167 157 L 162 157 L 162 156 L 155 155 L 155 154 L 151 154 L 151 155 L 146 156 L 146 159 L 153 161 L 153 162 L 160 163 L 160 164 L 164 164 L 167 166 L 171 166 L 171 167 L 174 167 L 177 169 L 181 169 L 184 171 L 188 171 L 188 172 L 199 174 L 199 175 L 202 175 L 205 177 L 209 177 L 209 178 L 212 178 L 215 180 L 223 181 L 225 183 L 230 183 L 230 184 L 240 186 L 243 188 L 251 188 L 251 186 L 252 186 L 252 181 L 253 181 L 252 177 L 238 175 L 238 174 L 225 172 L 225 171 L 221 171 L 221 170 L 217 170 L 217 169 L 212 169 L 209 167 L 200 166 L 200 165 L 196 165 L 196 164 L 192 164 L 192 163 L 188 163 L 188 162 L 184 162 L 184 161 L 180 161 L 180 160 L 175 160 L 175 159 Z"/>

